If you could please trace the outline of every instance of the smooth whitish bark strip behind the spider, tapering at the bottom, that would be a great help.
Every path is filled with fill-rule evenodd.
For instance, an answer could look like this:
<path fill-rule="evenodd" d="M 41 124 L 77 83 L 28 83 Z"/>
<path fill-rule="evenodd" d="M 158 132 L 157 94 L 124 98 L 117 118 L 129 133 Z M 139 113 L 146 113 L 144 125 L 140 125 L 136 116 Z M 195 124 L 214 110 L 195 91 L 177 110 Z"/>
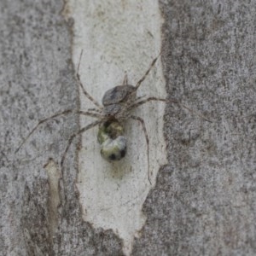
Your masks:
<path fill-rule="evenodd" d="M 161 17 L 158 1 L 68 0 L 63 14 L 74 19 L 73 63 L 80 65 L 85 90 L 97 102 L 108 89 L 122 84 L 125 72 L 129 84 L 137 84 L 160 53 Z M 161 61 L 143 82 L 138 96 L 166 97 Z M 81 109 L 95 108 L 80 90 Z M 136 109 L 144 119 L 149 137 L 150 172 L 154 185 L 160 165 L 166 163 L 162 134 L 165 102 L 147 102 Z M 81 127 L 94 121 L 81 116 Z M 142 126 L 127 120 L 128 152 L 115 163 L 103 160 L 97 143 L 97 127 L 86 131 L 79 152 L 78 189 L 84 220 L 95 227 L 113 230 L 131 253 L 134 236 L 139 236 L 146 217 L 142 207 L 149 189 L 147 143 Z"/>

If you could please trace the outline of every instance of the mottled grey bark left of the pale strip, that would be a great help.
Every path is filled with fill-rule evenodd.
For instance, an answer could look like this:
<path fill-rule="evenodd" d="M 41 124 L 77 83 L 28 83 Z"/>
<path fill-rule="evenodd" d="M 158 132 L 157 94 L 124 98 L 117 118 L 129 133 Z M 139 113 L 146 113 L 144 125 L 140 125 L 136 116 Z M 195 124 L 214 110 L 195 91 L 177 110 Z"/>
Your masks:
<path fill-rule="evenodd" d="M 122 254 L 121 241 L 112 231 L 95 230 L 82 221 L 74 186 L 74 145 L 58 178 L 67 139 L 79 129 L 77 117 L 42 125 L 15 154 L 39 119 L 79 107 L 71 61 L 72 20 L 62 19 L 62 4 L 0 3 L 0 255 Z M 50 173 L 55 180 L 49 180 Z"/>

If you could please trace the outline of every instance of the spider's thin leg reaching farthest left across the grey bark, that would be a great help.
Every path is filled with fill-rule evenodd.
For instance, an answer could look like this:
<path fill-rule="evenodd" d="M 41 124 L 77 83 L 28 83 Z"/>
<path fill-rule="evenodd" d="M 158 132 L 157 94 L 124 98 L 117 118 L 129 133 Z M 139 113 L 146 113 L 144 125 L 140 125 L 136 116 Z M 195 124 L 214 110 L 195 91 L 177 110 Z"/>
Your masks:
<path fill-rule="evenodd" d="M 46 118 L 46 119 L 39 120 L 38 125 L 36 125 L 36 126 L 32 129 L 32 131 L 29 132 L 29 134 L 26 136 L 26 138 L 23 140 L 23 142 L 20 143 L 19 148 L 17 148 L 17 149 L 15 150 L 15 154 L 16 154 L 16 153 L 20 150 L 20 148 L 26 143 L 26 141 L 28 140 L 28 138 L 32 136 L 32 133 L 38 129 L 38 126 L 39 126 L 39 125 L 44 124 L 45 122 L 49 121 L 50 119 L 55 119 L 55 118 L 58 117 L 58 116 L 61 116 L 61 115 L 64 115 L 64 114 L 68 114 L 68 113 L 73 113 L 73 109 L 67 109 L 67 110 L 65 110 L 65 111 L 62 111 L 61 113 L 55 113 L 54 115 L 51 115 L 51 116 L 49 116 L 49 117 Z M 84 112 L 84 111 L 76 111 L 76 112 L 74 112 L 74 113 L 79 113 L 79 114 L 91 116 L 91 117 L 98 118 L 98 119 L 102 118 L 102 115 L 97 114 L 97 113 L 90 113 L 90 112 Z"/>

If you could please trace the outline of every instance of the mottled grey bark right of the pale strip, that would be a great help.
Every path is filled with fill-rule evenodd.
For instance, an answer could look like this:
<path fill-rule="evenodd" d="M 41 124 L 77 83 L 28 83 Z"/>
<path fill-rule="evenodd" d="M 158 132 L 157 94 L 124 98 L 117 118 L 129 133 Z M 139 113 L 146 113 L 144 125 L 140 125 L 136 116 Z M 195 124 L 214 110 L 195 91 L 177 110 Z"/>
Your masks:
<path fill-rule="evenodd" d="M 169 165 L 134 255 L 255 255 L 255 1 L 160 1 Z M 148 242 L 149 241 L 149 242 Z"/>

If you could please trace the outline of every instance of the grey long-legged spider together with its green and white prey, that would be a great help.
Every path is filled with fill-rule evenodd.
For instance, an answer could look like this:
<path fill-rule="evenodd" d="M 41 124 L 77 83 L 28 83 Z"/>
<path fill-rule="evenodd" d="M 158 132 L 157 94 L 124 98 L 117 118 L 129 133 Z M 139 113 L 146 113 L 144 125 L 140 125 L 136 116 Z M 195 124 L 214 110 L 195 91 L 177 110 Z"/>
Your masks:
<path fill-rule="evenodd" d="M 83 55 L 83 50 L 81 51 L 81 54 L 80 54 L 79 66 L 80 66 L 82 55 Z M 127 75 L 125 74 L 125 79 L 122 85 L 115 86 L 104 94 L 102 98 L 102 106 L 98 102 L 96 102 L 96 100 L 92 96 L 90 96 L 90 94 L 86 90 L 84 90 L 84 85 L 82 84 L 79 77 L 79 66 L 78 66 L 76 78 L 78 80 L 79 86 L 83 91 L 84 96 L 86 96 L 90 100 L 90 102 L 92 102 L 96 106 L 96 108 L 88 109 L 88 111 L 82 111 L 82 110 L 74 111 L 73 109 L 67 109 L 61 113 L 55 113 L 54 115 L 46 119 L 40 120 L 38 122 L 38 125 L 36 125 L 32 129 L 32 131 L 29 132 L 29 134 L 26 136 L 26 138 L 23 140 L 23 142 L 20 144 L 19 148 L 17 148 L 15 152 L 20 150 L 22 145 L 26 143 L 27 139 L 32 135 L 32 133 L 38 128 L 39 125 L 44 124 L 45 122 L 49 121 L 49 119 L 54 119 L 61 115 L 65 115 L 68 113 L 77 113 L 77 114 L 82 114 L 85 116 L 96 118 L 97 120 L 95 122 L 90 123 L 90 125 L 84 126 L 82 129 L 73 133 L 73 135 L 69 137 L 67 147 L 65 148 L 65 151 L 61 157 L 61 169 L 63 167 L 63 163 L 66 159 L 67 151 L 71 143 L 73 142 L 73 139 L 79 136 L 80 134 L 84 133 L 85 131 L 88 131 L 89 129 L 95 127 L 96 125 L 99 125 L 99 131 L 98 131 L 97 137 L 98 137 L 98 142 L 101 144 L 102 157 L 109 161 L 120 160 L 123 157 L 125 157 L 125 154 L 126 154 L 126 138 L 124 134 L 124 122 L 127 119 L 134 119 L 142 125 L 143 133 L 146 139 L 148 181 L 151 184 L 150 172 L 149 172 L 148 132 L 146 130 L 146 125 L 144 123 L 144 120 L 138 116 L 131 114 L 131 110 L 143 105 L 146 102 L 159 101 L 159 102 L 174 102 L 181 105 L 183 108 L 187 108 L 189 111 L 192 112 L 190 108 L 184 106 L 183 104 L 181 104 L 181 102 L 178 102 L 175 99 L 166 100 L 166 99 L 158 98 L 154 96 L 148 97 L 146 99 L 142 99 L 142 97 L 137 97 L 138 88 L 143 83 L 144 79 L 147 78 L 148 73 L 150 72 L 152 67 L 154 67 L 154 64 L 159 58 L 159 56 L 160 55 L 154 58 L 154 60 L 151 62 L 151 65 L 148 67 L 147 72 L 143 75 L 142 79 L 140 79 L 137 82 L 136 86 L 128 84 Z M 202 118 L 206 119 L 204 117 Z"/>

